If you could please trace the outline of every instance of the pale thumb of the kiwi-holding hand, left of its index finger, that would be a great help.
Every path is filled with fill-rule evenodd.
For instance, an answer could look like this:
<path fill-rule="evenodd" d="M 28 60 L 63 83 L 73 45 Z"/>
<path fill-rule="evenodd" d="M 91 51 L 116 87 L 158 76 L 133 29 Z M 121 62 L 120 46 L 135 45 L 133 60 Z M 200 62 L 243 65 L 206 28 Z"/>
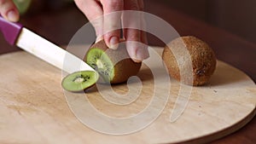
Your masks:
<path fill-rule="evenodd" d="M 96 41 L 103 37 L 103 9 L 101 3 L 95 0 L 74 0 L 96 31 Z"/>

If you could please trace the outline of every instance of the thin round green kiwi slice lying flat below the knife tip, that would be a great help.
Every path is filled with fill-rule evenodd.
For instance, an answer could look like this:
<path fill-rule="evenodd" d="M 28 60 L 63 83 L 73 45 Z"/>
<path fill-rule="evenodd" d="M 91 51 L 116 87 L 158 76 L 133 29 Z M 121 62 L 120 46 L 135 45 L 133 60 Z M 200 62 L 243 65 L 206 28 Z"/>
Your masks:
<path fill-rule="evenodd" d="M 73 72 L 63 78 L 61 85 L 63 89 L 78 92 L 96 84 L 98 78 L 99 74 L 94 71 Z"/>

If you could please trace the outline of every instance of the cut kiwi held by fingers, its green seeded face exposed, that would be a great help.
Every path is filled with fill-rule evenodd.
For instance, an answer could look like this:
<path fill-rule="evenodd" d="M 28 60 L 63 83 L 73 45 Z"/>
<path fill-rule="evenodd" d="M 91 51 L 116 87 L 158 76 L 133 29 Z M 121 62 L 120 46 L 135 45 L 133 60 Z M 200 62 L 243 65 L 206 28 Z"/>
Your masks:
<path fill-rule="evenodd" d="M 101 82 L 107 84 L 126 82 L 131 76 L 137 75 L 142 66 L 141 62 L 131 60 L 125 43 L 119 43 L 118 49 L 108 49 L 104 40 L 90 46 L 84 61 L 99 72 L 103 79 Z"/>

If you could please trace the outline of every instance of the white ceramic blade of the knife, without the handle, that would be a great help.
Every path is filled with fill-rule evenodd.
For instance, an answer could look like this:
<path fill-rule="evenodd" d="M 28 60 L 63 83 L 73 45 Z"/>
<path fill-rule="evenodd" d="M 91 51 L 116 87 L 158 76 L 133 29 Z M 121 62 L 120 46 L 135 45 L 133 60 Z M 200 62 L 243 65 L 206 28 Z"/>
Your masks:
<path fill-rule="evenodd" d="M 17 38 L 16 45 L 65 72 L 72 73 L 84 70 L 94 71 L 93 68 L 77 56 L 67 52 L 65 49 L 61 49 L 54 43 L 50 43 L 48 40 L 26 28 L 22 28 L 20 35 Z M 80 66 L 78 66 L 78 64 Z"/>

